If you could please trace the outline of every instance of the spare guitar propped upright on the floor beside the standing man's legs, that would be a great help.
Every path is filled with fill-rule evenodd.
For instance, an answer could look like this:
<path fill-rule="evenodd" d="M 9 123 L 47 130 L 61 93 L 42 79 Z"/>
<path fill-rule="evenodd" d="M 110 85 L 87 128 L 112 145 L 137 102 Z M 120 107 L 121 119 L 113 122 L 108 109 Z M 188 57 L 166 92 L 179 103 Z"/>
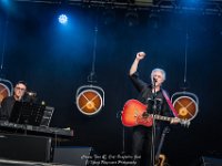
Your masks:
<path fill-rule="evenodd" d="M 161 139 L 160 139 L 160 144 L 158 147 L 158 152 L 155 154 L 155 166 L 164 166 L 165 163 L 165 155 L 160 154 L 161 153 L 161 148 L 165 138 L 165 134 L 170 132 L 170 127 L 164 127 L 162 135 L 161 135 Z"/>

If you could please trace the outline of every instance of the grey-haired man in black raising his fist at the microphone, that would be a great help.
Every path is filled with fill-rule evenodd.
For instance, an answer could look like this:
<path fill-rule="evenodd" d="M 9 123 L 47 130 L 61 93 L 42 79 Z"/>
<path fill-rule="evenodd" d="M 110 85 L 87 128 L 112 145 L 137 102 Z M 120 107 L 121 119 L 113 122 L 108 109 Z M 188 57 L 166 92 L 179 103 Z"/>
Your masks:
<path fill-rule="evenodd" d="M 138 52 L 129 73 L 133 85 L 139 91 L 138 100 L 141 103 L 148 105 L 147 112 L 149 114 L 152 114 L 154 110 L 155 114 L 173 117 L 173 114 L 169 108 L 169 105 L 162 94 L 162 89 L 161 89 L 162 83 L 165 81 L 165 72 L 162 69 L 154 69 L 151 72 L 151 84 L 147 84 L 139 77 L 138 66 L 140 61 L 143 60 L 144 58 L 145 58 L 144 52 Z M 171 123 L 178 123 L 178 120 L 172 118 Z M 153 127 L 155 128 L 154 152 L 157 152 L 158 142 L 160 141 L 161 131 L 164 125 L 165 124 L 163 122 L 155 121 L 155 127 Z M 143 125 L 134 126 L 132 132 L 132 155 L 138 156 L 135 157 L 137 165 L 150 166 L 151 154 L 152 154 L 151 152 L 152 152 L 152 126 L 151 127 L 147 127 Z"/>

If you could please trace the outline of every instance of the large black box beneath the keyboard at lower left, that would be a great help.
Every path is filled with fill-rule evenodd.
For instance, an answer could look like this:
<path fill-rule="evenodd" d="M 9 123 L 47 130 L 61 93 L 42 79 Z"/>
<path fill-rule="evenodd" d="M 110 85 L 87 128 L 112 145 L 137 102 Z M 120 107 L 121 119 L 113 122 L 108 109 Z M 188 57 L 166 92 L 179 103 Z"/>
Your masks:
<path fill-rule="evenodd" d="M 0 158 L 16 160 L 52 160 L 52 141 L 49 137 L 0 134 Z"/>

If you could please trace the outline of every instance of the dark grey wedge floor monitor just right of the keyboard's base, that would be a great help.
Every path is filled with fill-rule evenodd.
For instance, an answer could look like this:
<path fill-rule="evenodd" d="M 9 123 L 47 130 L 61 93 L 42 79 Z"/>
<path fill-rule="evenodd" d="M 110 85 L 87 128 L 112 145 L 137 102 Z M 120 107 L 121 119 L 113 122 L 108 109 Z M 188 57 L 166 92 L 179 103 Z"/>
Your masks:
<path fill-rule="evenodd" d="M 91 147 L 56 147 L 53 163 L 85 166 L 91 151 Z"/>

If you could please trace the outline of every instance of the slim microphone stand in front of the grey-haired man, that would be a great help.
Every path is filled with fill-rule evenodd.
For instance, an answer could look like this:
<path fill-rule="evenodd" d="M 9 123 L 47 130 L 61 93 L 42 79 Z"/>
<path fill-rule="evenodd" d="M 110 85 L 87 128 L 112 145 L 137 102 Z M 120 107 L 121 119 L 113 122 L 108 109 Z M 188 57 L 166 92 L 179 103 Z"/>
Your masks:
<path fill-rule="evenodd" d="M 152 144 L 151 144 L 151 166 L 155 165 L 155 113 L 157 113 L 157 91 L 155 79 L 153 79 L 153 118 L 152 118 Z"/>

